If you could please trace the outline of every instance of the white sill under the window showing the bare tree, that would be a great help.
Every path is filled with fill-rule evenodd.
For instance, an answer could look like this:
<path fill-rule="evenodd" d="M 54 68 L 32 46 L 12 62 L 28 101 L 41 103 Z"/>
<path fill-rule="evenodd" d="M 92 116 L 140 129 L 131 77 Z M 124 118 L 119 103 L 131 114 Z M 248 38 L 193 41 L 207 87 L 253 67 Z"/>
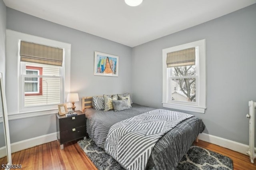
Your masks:
<path fill-rule="evenodd" d="M 174 104 L 174 103 L 163 103 L 163 107 L 168 109 L 177 109 L 181 111 L 190 111 L 190 112 L 196 112 L 196 113 L 204 113 L 206 109 L 204 107 L 180 105 L 180 104 Z"/>

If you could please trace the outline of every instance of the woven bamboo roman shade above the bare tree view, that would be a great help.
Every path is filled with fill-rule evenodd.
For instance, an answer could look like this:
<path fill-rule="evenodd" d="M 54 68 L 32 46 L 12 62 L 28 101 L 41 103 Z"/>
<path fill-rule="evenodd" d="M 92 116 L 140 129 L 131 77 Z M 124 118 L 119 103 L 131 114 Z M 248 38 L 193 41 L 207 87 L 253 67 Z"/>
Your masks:
<path fill-rule="evenodd" d="M 195 53 L 194 47 L 167 53 L 167 58 L 166 58 L 167 67 L 195 65 L 195 63 L 196 63 L 196 53 Z"/>

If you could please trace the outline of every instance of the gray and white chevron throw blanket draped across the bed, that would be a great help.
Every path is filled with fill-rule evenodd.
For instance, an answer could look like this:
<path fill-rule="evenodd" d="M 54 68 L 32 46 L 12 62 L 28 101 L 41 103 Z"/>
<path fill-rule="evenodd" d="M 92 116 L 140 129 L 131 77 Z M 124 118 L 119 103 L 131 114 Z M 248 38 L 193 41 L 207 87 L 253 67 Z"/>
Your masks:
<path fill-rule="evenodd" d="M 158 139 L 193 116 L 156 109 L 118 122 L 108 132 L 105 151 L 128 170 L 144 170 Z"/>

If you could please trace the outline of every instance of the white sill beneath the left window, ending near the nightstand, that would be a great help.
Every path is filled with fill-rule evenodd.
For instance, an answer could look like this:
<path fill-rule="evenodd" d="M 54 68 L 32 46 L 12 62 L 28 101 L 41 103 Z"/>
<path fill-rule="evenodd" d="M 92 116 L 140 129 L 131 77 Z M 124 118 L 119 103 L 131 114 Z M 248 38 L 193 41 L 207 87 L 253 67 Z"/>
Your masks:
<path fill-rule="evenodd" d="M 58 113 L 58 109 L 42 110 L 42 111 L 29 111 L 29 112 L 20 112 L 16 114 L 9 114 L 8 120 L 24 119 L 30 117 L 46 116 L 53 115 Z"/>

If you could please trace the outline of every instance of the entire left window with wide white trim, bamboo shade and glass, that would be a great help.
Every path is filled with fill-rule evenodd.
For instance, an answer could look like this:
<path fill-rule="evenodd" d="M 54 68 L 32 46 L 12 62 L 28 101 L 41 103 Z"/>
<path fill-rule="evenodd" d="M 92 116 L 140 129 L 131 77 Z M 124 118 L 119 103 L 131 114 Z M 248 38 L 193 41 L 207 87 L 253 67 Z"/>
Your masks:
<path fill-rule="evenodd" d="M 41 47 L 60 49 L 62 61 L 58 58 L 49 58 L 48 56 L 52 55 L 48 54 L 44 57 L 40 57 L 37 55 L 38 53 L 35 53 L 36 55 L 23 53 L 23 55 L 20 53 L 22 42 L 31 42 L 32 44 L 28 43 L 28 46 L 33 45 L 33 43 L 38 44 L 39 46 L 36 45 L 35 47 L 39 50 L 35 51 L 40 51 L 40 53 Z M 38 58 L 35 60 L 35 57 Z M 35 62 L 40 58 L 47 63 Z M 9 119 L 23 119 L 58 112 L 58 104 L 54 103 L 65 103 L 64 99 L 70 93 L 70 61 L 71 44 L 69 43 L 6 30 L 6 103 Z M 42 75 L 27 74 L 27 66 L 41 67 Z M 42 82 L 42 95 L 26 95 L 25 78 L 28 80 L 27 78 L 36 77 L 39 77 L 40 83 Z"/>

